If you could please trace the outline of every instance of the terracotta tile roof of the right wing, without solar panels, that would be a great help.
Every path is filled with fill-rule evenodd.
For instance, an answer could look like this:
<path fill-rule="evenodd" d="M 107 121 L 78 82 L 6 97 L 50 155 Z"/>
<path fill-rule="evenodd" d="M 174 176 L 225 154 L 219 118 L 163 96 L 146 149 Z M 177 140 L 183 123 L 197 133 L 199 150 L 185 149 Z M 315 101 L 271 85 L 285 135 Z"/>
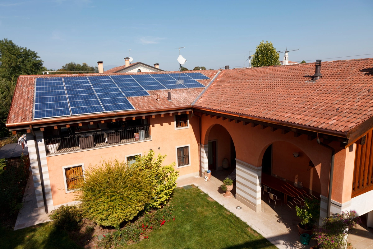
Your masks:
<path fill-rule="evenodd" d="M 373 115 L 373 58 L 223 70 L 195 107 L 347 132 Z"/>

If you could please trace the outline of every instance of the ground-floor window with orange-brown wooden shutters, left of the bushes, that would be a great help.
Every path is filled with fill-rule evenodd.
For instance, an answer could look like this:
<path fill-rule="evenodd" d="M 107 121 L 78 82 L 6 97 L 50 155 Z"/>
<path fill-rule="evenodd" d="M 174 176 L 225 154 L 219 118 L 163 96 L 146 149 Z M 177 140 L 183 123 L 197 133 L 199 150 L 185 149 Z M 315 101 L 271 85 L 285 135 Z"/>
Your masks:
<path fill-rule="evenodd" d="M 72 165 L 62 168 L 63 176 L 65 178 L 65 191 L 66 193 L 79 189 L 84 181 L 84 166 Z"/>

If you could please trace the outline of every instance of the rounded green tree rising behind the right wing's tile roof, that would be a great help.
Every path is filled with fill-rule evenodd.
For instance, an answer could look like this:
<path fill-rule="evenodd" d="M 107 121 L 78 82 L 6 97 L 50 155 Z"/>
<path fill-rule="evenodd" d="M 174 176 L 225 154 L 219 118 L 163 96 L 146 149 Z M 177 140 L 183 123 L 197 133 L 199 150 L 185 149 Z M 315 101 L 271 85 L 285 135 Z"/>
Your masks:
<path fill-rule="evenodd" d="M 280 54 L 273 47 L 272 42 L 261 41 L 257 46 L 255 51 L 255 56 L 251 60 L 251 65 L 253 67 L 257 66 L 274 66 L 280 65 Z"/>

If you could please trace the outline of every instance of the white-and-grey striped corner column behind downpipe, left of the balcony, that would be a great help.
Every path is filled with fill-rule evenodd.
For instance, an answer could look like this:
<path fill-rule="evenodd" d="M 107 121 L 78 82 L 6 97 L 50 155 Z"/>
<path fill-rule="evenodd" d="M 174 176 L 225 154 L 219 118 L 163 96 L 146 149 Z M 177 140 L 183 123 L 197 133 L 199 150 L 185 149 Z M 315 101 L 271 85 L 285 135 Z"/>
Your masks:
<path fill-rule="evenodd" d="M 40 153 L 41 170 L 43 172 L 44 189 L 46 192 L 45 194 L 46 194 L 48 212 L 50 212 L 54 209 L 54 206 L 53 206 L 52 191 L 51 191 L 50 181 L 49 181 L 47 154 L 46 154 L 46 147 L 44 144 L 43 131 L 35 131 L 35 135 L 37 138 L 37 143 L 38 143 L 38 148 L 39 148 L 39 153 Z M 38 213 L 45 214 L 44 199 L 43 199 L 43 192 L 41 190 L 40 172 L 39 172 L 39 166 L 38 166 L 38 159 L 36 156 L 34 136 L 32 136 L 31 133 L 27 133 L 26 137 L 27 137 L 28 155 L 30 157 L 32 179 L 34 180 L 36 202 L 38 204 Z"/>

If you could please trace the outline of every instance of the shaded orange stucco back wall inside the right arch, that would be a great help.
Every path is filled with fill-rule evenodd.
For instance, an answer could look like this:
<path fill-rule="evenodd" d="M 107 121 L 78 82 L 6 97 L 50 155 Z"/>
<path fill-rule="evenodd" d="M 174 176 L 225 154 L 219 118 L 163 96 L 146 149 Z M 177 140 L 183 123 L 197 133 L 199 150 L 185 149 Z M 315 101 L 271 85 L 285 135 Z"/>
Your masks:
<path fill-rule="evenodd" d="M 276 141 L 272 146 L 273 174 L 294 183 L 301 181 L 304 187 L 312 190 L 311 193 L 313 194 L 321 193 L 321 184 L 319 175 L 317 174 L 317 171 L 320 171 L 320 164 L 315 167 L 308 166 L 310 158 L 294 144 Z M 299 153 L 297 158 L 293 156 L 294 152 Z"/>

